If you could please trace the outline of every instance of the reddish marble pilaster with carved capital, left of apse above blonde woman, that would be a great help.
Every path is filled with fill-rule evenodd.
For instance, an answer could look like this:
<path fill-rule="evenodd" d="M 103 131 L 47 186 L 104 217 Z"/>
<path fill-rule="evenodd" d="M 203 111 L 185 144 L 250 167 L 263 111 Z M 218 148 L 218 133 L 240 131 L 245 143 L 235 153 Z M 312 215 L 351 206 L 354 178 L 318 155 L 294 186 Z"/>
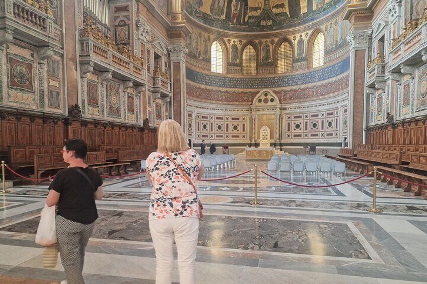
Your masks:
<path fill-rule="evenodd" d="M 188 49 L 183 44 L 168 47 L 172 74 L 172 118 L 186 131 L 185 59 Z"/>

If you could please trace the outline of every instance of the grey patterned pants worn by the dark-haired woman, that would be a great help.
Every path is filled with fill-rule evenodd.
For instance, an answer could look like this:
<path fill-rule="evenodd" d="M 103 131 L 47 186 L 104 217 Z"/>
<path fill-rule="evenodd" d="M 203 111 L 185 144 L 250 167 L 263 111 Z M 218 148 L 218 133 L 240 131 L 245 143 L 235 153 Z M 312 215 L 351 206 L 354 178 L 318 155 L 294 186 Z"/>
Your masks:
<path fill-rule="evenodd" d="M 65 269 L 68 284 L 85 284 L 83 280 L 83 262 L 85 248 L 92 235 L 95 222 L 89 225 L 56 216 L 56 236 L 62 266 Z"/>

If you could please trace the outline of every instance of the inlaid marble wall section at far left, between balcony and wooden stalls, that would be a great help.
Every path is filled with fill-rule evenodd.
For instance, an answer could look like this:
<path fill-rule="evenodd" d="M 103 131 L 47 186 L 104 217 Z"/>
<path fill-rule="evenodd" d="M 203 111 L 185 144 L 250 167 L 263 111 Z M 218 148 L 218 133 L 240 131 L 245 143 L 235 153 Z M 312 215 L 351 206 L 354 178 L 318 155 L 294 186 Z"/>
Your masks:
<path fill-rule="evenodd" d="M 0 105 L 65 112 L 63 55 L 13 40 L 0 48 Z"/>

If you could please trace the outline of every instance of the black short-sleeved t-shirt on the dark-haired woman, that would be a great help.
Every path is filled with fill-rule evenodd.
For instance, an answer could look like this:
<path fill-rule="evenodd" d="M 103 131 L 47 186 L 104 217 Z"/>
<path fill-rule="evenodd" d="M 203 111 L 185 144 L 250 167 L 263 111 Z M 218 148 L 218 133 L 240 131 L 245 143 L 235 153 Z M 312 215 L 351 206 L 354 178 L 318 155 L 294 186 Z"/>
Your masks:
<path fill-rule="evenodd" d="M 77 168 L 86 173 L 95 188 L 91 188 L 85 177 L 77 170 L 66 168 L 58 171 L 50 183 L 49 190 L 60 193 L 58 215 L 81 224 L 91 224 L 98 218 L 94 193 L 102 185 L 102 178 L 96 169 Z"/>

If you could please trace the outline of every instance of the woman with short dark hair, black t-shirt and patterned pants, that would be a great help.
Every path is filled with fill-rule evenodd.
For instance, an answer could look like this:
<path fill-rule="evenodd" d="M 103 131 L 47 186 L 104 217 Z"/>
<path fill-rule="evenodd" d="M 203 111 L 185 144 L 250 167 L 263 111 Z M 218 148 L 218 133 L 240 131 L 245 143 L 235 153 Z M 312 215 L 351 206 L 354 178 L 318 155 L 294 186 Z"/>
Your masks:
<path fill-rule="evenodd" d="M 56 236 L 66 278 L 61 284 L 85 284 L 85 248 L 98 218 L 95 200 L 102 199 L 102 179 L 84 162 L 88 152 L 82 139 L 66 141 L 61 151 L 69 167 L 58 171 L 49 186 L 47 206 L 57 205 Z"/>

